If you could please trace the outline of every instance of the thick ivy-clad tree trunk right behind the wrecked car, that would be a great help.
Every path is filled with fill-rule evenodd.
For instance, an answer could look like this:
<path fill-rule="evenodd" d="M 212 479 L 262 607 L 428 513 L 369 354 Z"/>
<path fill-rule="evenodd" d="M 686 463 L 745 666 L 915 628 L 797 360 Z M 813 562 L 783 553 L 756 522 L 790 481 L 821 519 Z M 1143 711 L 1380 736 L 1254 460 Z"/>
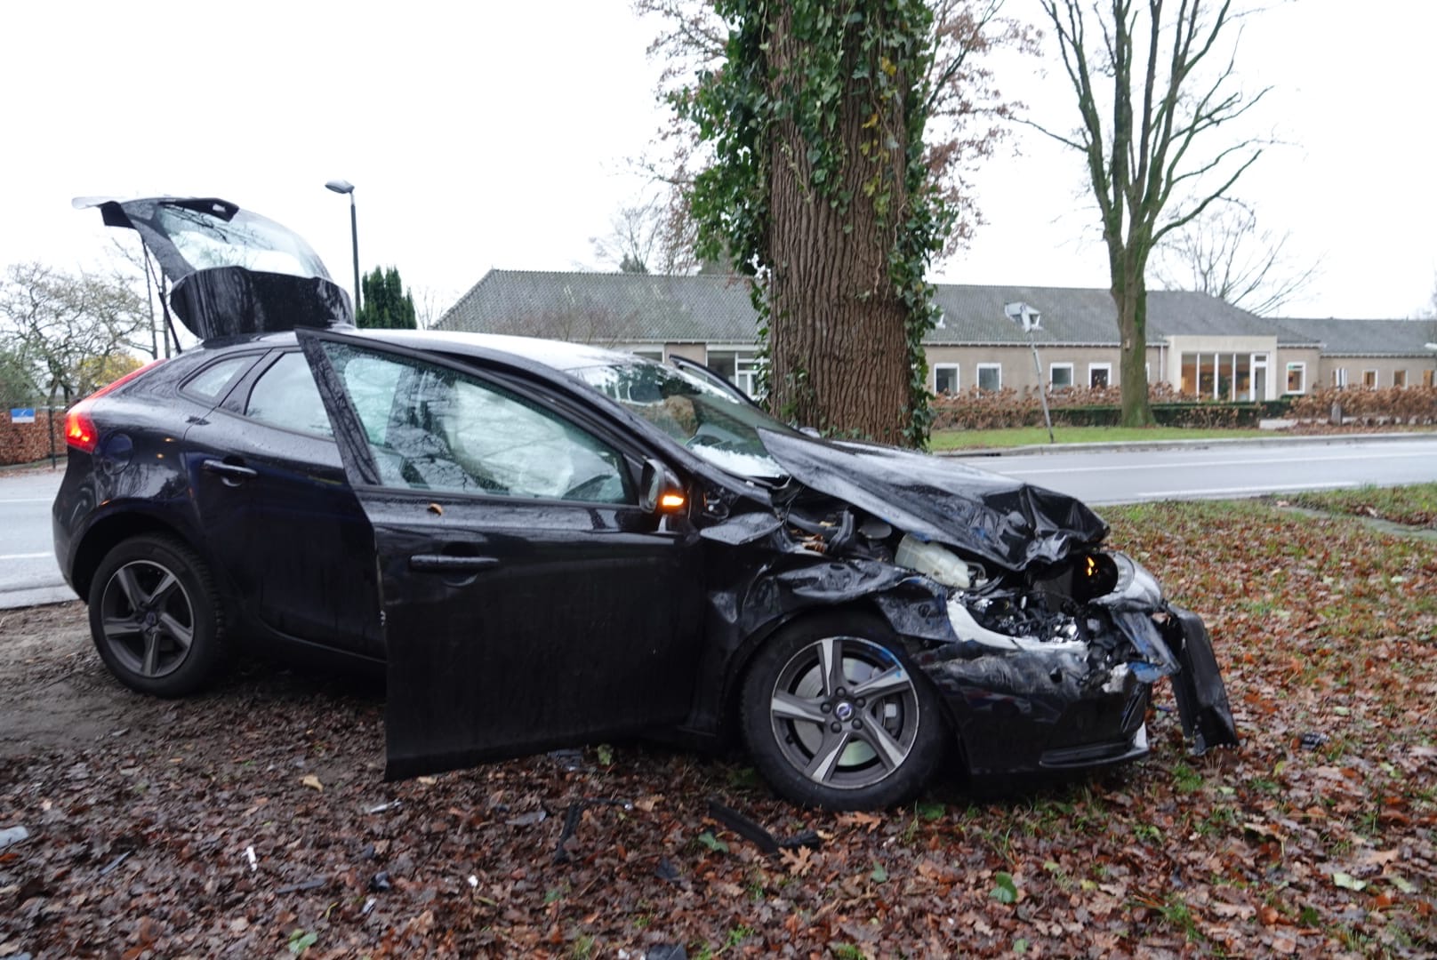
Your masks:
<path fill-rule="evenodd" d="M 726 60 L 675 96 L 714 152 L 700 256 L 753 279 L 770 408 L 927 443 L 933 287 L 954 213 L 924 162 L 933 13 L 918 0 L 718 0 Z"/>

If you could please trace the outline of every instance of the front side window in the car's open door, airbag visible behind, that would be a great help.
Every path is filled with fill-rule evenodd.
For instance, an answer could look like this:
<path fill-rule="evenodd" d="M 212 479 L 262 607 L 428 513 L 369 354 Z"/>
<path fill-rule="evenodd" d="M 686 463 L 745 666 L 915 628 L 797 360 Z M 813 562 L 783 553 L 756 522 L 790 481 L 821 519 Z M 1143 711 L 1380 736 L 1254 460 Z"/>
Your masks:
<path fill-rule="evenodd" d="M 388 487 L 634 503 L 624 457 L 555 412 L 444 366 L 325 343 Z"/>

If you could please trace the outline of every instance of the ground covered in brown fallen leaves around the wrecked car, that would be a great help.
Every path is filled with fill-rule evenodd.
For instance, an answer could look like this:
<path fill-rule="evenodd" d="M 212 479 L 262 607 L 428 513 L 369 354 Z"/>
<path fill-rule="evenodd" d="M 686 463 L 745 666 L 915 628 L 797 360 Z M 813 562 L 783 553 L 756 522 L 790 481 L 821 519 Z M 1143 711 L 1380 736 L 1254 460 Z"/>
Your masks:
<path fill-rule="evenodd" d="M 1213 629 L 1246 739 L 881 815 L 616 744 L 381 780 L 372 684 L 118 688 L 83 608 L 0 614 L 0 957 L 1431 956 L 1437 545 L 1276 506 L 1109 512 Z M 764 857 L 718 798 L 816 849 Z M 570 805 L 585 808 L 556 862 Z M 253 854 L 253 855 L 251 855 Z"/>

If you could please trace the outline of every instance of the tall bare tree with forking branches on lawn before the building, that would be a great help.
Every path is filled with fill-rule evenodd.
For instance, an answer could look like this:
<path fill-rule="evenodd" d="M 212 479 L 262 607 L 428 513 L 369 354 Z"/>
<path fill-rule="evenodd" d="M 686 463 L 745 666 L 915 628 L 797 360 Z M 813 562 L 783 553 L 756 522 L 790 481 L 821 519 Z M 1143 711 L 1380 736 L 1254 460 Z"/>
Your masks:
<path fill-rule="evenodd" d="M 1256 106 L 1234 76 L 1230 0 L 1042 0 L 1076 95 L 1071 132 L 1026 121 L 1083 157 L 1098 201 L 1118 332 L 1122 423 L 1152 424 L 1148 257 L 1224 197 L 1262 155 L 1255 138 L 1213 144 Z M 1227 53 L 1227 50 L 1232 50 Z M 1226 59 L 1224 59 L 1226 53 Z"/>

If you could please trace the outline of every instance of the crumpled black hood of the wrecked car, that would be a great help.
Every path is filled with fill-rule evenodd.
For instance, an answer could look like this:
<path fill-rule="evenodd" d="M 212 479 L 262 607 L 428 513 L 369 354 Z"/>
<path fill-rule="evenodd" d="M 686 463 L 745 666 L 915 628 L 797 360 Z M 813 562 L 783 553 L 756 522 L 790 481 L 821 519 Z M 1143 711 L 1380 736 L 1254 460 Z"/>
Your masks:
<path fill-rule="evenodd" d="M 951 460 L 770 430 L 760 438 L 803 486 L 1006 569 L 1059 560 L 1108 535 L 1081 500 Z"/>

